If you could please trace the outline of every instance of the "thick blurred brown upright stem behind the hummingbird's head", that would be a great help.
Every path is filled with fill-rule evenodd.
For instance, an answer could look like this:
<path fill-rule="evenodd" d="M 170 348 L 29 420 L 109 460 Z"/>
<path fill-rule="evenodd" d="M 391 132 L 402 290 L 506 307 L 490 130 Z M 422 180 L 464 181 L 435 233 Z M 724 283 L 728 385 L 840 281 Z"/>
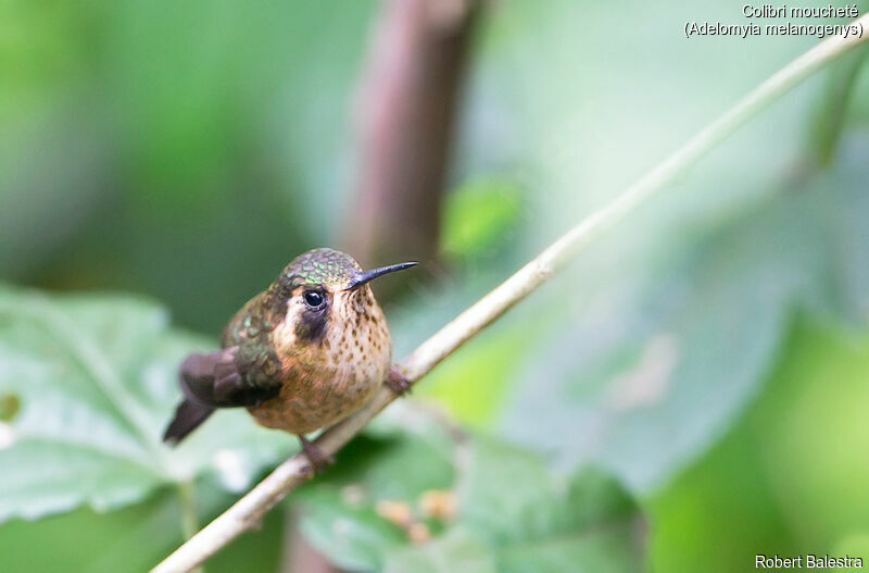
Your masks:
<path fill-rule="evenodd" d="M 344 244 L 363 266 L 437 254 L 441 198 L 478 0 L 387 0 L 356 109 Z"/>

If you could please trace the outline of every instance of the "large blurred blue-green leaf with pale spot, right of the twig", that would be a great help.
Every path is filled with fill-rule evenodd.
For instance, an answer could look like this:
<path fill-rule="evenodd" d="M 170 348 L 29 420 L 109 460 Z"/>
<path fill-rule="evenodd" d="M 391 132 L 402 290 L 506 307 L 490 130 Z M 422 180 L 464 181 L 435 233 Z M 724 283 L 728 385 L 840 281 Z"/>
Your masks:
<path fill-rule="evenodd" d="M 796 310 L 865 324 L 868 141 L 719 224 L 654 288 L 566 306 L 518 371 L 504 434 L 648 491 L 751 403 Z"/>

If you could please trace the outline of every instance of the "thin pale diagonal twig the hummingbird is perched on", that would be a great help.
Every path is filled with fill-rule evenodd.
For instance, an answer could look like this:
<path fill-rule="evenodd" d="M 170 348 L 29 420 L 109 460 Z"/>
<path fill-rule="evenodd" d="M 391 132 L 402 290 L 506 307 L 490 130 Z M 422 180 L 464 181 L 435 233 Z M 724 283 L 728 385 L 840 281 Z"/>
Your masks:
<path fill-rule="evenodd" d="M 869 13 L 851 25 L 859 26 L 864 30 L 869 25 Z M 645 199 L 664 189 L 677 174 L 691 166 L 746 120 L 821 66 L 867 39 L 869 36 L 864 36 L 862 33 L 848 35 L 847 38 L 831 36 L 770 76 L 615 200 L 568 231 L 513 276 L 423 342 L 399 363 L 399 368 L 411 382 L 421 378 L 441 360 L 558 272 L 580 248 L 624 219 Z M 395 395 L 383 388 L 362 410 L 323 433 L 315 444 L 324 452 L 337 452 L 394 399 Z M 256 527 L 262 516 L 275 503 L 308 476 L 310 469 L 304 457 L 299 454 L 290 458 L 236 505 L 168 556 L 152 573 L 190 571 L 241 533 Z"/>

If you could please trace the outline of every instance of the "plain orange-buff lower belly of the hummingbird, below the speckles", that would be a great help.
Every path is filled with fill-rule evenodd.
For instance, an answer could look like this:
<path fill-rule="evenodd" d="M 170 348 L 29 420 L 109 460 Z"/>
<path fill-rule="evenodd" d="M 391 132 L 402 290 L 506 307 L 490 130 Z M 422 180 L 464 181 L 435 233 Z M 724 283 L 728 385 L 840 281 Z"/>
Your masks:
<path fill-rule="evenodd" d="M 292 434 L 328 427 L 362 407 L 380 387 L 386 372 L 349 373 L 315 384 L 287 382 L 275 398 L 248 411 L 263 426 Z"/>

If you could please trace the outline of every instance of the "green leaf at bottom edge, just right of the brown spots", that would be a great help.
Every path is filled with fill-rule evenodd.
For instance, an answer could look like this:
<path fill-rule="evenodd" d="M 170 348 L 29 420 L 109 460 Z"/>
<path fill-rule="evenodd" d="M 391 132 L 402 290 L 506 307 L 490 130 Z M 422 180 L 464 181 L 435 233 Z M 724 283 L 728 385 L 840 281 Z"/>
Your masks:
<path fill-rule="evenodd" d="M 387 571 L 641 571 L 638 512 L 612 478 L 552 475 L 529 452 L 475 439 L 444 536 L 390 556 Z"/>

